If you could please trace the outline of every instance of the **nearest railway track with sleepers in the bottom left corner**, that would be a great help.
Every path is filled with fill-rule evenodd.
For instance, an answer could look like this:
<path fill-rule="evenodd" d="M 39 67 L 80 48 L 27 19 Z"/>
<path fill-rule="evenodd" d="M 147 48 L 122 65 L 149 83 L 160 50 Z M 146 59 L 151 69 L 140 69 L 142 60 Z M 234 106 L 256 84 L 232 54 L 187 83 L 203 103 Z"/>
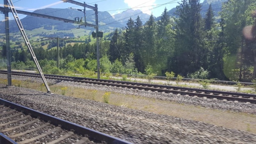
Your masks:
<path fill-rule="evenodd" d="M 0 99 L 1 144 L 97 144 L 102 142 L 131 144 L 90 128 Z"/>

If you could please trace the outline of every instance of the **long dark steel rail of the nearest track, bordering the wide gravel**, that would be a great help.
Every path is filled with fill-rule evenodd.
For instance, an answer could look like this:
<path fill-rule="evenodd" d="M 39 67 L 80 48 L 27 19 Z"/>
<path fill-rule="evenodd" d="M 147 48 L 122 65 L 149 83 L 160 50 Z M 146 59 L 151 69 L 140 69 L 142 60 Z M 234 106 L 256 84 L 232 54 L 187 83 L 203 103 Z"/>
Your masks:
<path fill-rule="evenodd" d="M 61 125 L 62 128 L 68 129 L 69 131 L 74 130 L 79 135 L 88 135 L 91 139 L 97 140 L 99 142 L 105 141 L 109 144 L 132 144 L 131 142 L 127 142 L 122 139 L 115 138 L 111 135 L 107 135 L 102 132 L 98 132 L 98 131 L 95 131 L 93 129 L 90 129 L 90 128 L 87 128 L 84 126 L 77 125 L 75 123 L 72 123 L 72 122 L 69 122 L 69 121 L 66 121 L 66 120 L 63 120 L 60 118 L 56 118 L 49 114 L 44 114 L 42 112 L 33 110 L 28 107 L 24 107 L 19 104 L 9 102 L 9 101 L 1 99 L 1 98 L 0 98 L 0 104 L 5 105 L 6 107 L 10 107 L 12 109 L 16 109 L 16 111 L 20 111 L 20 112 L 22 111 L 24 114 L 28 114 L 32 117 L 35 117 L 35 118 L 39 117 L 43 121 L 46 121 L 46 122 L 51 121 L 51 124 L 53 124 L 55 126 Z"/>

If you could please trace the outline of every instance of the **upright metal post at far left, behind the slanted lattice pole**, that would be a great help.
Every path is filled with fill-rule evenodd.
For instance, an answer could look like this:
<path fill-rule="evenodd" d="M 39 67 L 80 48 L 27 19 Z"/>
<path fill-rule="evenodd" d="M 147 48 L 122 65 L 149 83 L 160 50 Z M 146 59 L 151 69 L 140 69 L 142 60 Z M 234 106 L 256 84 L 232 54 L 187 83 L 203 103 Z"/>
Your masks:
<path fill-rule="evenodd" d="M 8 1 L 4 0 L 5 8 L 8 8 Z M 12 71 L 11 71 L 11 49 L 10 49 L 10 35 L 9 35 L 9 12 L 5 13 L 5 40 L 6 40 L 6 59 L 7 59 L 7 85 L 6 87 L 12 87 Z"/>

